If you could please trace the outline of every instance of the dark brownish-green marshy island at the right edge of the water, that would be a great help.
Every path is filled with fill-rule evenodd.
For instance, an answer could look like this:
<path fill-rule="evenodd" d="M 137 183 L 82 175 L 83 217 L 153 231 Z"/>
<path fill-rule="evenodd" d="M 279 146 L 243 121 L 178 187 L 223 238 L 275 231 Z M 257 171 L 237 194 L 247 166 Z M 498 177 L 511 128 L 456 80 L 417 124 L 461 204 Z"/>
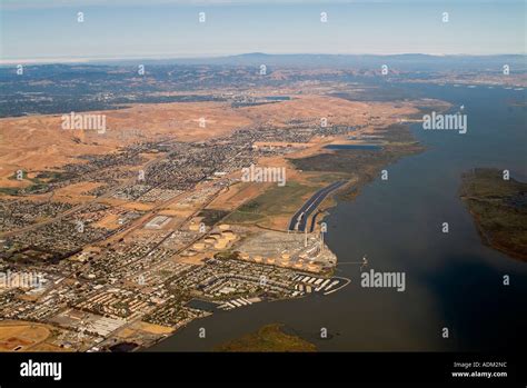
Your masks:
<path fill-rule="evenodd" d="M 460 197 L 485 245 L 527 261 L 527 183 L 477 168 L 463 176 Z"/>

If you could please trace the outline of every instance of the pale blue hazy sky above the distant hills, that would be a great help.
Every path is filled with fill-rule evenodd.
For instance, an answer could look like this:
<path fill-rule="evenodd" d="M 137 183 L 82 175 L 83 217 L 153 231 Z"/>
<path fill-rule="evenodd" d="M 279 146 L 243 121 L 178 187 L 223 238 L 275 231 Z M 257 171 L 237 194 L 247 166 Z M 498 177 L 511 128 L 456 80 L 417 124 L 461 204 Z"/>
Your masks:
<path fill-rule="evenodd" d="M 526 53 L 524 0 L 0 0 L 2 62 Z M 78 22 L 83 12 L 83 22 Z M 206 21 L 199 22 L 199 12 Z M 320 13 L 327 13 L 327 22 Z M 448 12 L 448 22 L 444 22 Z"/>

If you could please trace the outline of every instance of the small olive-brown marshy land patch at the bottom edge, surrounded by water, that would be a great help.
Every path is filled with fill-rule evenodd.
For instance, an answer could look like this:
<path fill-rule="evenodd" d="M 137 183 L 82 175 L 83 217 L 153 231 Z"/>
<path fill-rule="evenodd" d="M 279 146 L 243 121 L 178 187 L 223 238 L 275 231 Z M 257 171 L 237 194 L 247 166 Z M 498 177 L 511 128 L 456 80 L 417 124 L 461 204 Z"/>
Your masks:
<path fill-rule="evenodd" d="M 272 324 L 239 339 L 218 346 L 216 351 L 316 351 L 314 344 L 286 334 L 284 325 Z"/>

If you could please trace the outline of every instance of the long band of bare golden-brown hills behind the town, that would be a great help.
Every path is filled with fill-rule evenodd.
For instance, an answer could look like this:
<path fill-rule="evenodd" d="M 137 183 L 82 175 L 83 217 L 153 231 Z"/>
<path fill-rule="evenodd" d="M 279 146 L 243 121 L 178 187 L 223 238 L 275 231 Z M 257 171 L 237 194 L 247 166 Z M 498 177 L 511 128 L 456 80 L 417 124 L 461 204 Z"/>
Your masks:
<path fill-rule="evenodd" d="M 395 108 L 384 102 L 297 96 L 279 103 L 237 109 L 225 102 L 183 102 L 89 112 L 107 116 L 107 131 L 102 135 L 95 130 L 62 129 L 59 115 L 0 119 L 0 186 L 28 186 L 27 181 L 7 179 L 18 169 L 28 172 L 60 169 L 66 163 L 80 162 L 79 156 L 110 153 L 147 139 L 200 141 L 249 125 L 285 127 L 292 119 L 317 123 L 322 117 L 328 119 L 328 125 L 365 125 L 371 117 L 391 121 L 396 116 L 412 112 L 410 103 Z M 205 118 L 206 128 L 199 126 L 200 118 Z"/>

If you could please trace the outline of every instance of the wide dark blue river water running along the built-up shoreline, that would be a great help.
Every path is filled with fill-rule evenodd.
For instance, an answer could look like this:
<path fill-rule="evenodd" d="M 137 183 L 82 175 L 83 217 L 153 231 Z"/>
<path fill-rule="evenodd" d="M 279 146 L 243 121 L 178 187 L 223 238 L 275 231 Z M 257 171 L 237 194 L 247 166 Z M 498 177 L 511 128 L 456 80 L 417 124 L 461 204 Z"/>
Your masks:
<path fill-rule="evenodd" d="M 527 263 L 481 245 L 458 196 L 461 173 L 475 167 L 509 169 L 527 181 L 527 112 L 513 103 L 525 101 L 525 91 L 419 84 L 407 93 L 450 101 L 453 111 L 464 105 L 468 131 L 412 126 L 427 150 L 389 166 L 387 181 L 375 180 L 331 210 L 326 241 L 339 259 L 336 275 L 351 285 L 327 297 L 215 314 L 153 350 L 209 350 L 270 322 L 286 324 L 320 350 L 525 349 Z M 361 288 L 352 262 L 365 255 L 370 268 L 404 271 L 406 291 Z M 206 339 L 198 338 L 200 327 Z M 329 339 L 319 338 L 322 327 Z"/>

